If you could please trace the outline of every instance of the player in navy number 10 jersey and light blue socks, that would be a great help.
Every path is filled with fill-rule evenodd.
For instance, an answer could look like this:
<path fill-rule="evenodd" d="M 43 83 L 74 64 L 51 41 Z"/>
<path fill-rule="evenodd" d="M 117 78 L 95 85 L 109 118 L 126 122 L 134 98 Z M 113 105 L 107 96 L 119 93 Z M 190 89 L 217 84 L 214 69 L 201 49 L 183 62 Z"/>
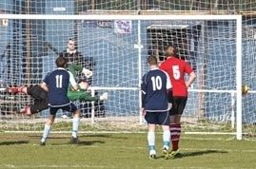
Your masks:
<path fill-rule="evenodd" d="M 142 111 L 148 122 L 149 158 L 156 158 L 155 126 L 160 124 L 164 131 L 163 153 L 167 159 L 170 138 L 167 93 L 171 84 L 167 73 L 158 68 L 156 57 L 149 56 L 148 65 L 150 70 L 142 78 L 141 90 Z"/>

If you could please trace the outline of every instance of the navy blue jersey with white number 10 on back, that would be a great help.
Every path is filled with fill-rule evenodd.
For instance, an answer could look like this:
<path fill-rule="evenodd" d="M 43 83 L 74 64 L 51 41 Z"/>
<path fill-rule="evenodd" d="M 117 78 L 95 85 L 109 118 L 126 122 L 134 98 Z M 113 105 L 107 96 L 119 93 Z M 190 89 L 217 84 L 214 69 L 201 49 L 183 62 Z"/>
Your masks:
<path fill-rule="evenodd" d="M 158 68 L 150 69 L 142 78 L 142 107 L 151 112 L 167 111 L 167 89 L 170 87 L 166 72 Z"/>

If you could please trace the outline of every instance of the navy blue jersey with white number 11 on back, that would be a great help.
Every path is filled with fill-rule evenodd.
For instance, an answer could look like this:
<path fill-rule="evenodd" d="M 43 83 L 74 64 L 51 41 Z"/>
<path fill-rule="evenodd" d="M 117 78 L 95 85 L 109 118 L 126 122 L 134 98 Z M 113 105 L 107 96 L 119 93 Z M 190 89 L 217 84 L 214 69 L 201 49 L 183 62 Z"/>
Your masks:
<path fill-rule="evenodd" d="M 44 83 L 49 88 L 48 98 L 50 106 L 58 107 L 70 103 L 67 97 L 69 82 L 72 85 L 76 84 L 73 76 L 64 68 L 57 68 L 46 76 Z"/>

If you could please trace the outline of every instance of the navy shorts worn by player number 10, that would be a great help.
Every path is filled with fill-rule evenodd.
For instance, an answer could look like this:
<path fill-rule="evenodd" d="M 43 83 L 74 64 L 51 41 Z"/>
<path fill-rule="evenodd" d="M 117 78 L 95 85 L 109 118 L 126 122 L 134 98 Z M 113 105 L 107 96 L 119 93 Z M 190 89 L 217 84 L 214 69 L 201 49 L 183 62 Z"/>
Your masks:
<path fill-rule="evenodd" d="M 168 112 L 148 112 L 146 113 L 145 120 L 148 123 L 154 123 L 159 125 L 169 125 Z"/>

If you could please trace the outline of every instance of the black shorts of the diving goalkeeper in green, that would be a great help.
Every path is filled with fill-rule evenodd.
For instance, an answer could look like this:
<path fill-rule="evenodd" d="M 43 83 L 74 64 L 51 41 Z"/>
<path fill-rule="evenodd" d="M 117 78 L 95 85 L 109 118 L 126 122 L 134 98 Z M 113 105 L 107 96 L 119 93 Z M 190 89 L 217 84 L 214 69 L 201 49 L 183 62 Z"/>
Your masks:
<path fill-rule="evenodd" d="M 31 85 L 27 87 L 28 94 L 34 99 L 34 103 L 30 104 L 31 114 L 46 110 L 49 107 L 48 92 L 39 85 Z"/>

